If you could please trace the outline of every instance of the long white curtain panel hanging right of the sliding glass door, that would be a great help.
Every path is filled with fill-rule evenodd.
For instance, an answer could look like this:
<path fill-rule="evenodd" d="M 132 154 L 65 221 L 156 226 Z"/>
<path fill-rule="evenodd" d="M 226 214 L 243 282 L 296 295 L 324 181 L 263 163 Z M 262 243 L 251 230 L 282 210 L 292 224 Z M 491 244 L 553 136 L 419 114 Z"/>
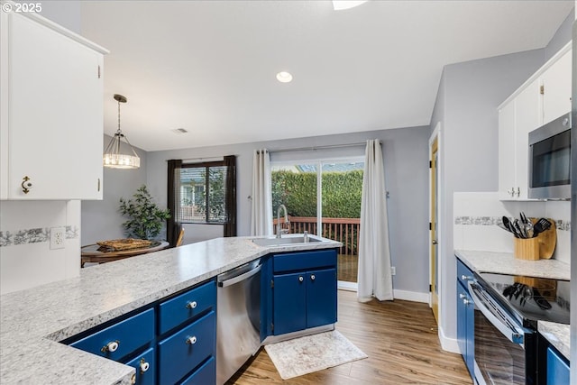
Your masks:
<path fill-rule="evenodd" d="M 357 298 L 393 299 L 390 274 L 387 192 L 378 140 L 367 141 L 362 177 L 361 230 Z"/>

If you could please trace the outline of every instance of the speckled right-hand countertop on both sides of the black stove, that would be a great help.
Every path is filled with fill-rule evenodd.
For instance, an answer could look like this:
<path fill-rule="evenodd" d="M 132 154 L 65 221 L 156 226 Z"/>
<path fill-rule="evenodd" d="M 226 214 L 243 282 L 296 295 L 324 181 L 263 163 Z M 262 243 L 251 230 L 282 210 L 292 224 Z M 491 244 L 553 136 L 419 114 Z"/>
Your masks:
<path fill-rule="evenodd" d="M 455 250 L 455 255 L 471 270 L 477 272 L 495 272 L 501 274 L 524 275 L 555 280 L 571 280 L 571 266 L 562 261 L 517 260 L 511 252 L 473 252 Z M 570 325 L 553 322 L 537 322 L 541 335 L 553 344 L 565 358 L 570 358 Z"/>

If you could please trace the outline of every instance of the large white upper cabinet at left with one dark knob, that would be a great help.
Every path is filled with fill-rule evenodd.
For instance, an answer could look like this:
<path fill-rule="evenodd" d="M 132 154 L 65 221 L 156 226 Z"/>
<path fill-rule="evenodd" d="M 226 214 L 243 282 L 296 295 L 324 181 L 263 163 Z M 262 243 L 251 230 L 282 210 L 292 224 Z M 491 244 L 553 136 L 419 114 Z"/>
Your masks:
<path fill-rule="evenodd" d="M 102 199 L 103 54 L 37 15 L 2 13 L 2 199 Z"/>

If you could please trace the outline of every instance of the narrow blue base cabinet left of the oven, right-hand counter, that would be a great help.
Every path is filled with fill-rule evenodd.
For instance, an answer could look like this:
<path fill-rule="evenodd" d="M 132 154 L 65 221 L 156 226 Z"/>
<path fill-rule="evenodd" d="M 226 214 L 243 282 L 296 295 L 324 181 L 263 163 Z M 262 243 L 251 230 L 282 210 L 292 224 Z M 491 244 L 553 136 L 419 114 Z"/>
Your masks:
<path fill-rule="evenodd" d="M 469 374 L 474 379 L 475 365 L 475 307 L 469 293 L 472 271 L 457 259 L 457 344 Z"/>

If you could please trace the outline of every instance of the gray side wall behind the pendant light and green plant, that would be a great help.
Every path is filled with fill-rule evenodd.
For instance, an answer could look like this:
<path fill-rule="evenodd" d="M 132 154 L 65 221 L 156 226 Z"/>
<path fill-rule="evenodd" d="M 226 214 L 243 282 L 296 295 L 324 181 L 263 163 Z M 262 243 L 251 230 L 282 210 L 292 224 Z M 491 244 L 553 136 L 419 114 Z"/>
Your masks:
<path fill-rule="evenodd" d="M 104 135 L 105 145 L 111 137 Z M 134 148 L 141 158 L 137 170 L 104 169 L 103 200 L 82 201 L 80 242 L 82 245 L 106 239 L 124 238 L 124 218 L 118 213 L 120 198 L 130 198 L 146 183 L 146 152 Z"/>

